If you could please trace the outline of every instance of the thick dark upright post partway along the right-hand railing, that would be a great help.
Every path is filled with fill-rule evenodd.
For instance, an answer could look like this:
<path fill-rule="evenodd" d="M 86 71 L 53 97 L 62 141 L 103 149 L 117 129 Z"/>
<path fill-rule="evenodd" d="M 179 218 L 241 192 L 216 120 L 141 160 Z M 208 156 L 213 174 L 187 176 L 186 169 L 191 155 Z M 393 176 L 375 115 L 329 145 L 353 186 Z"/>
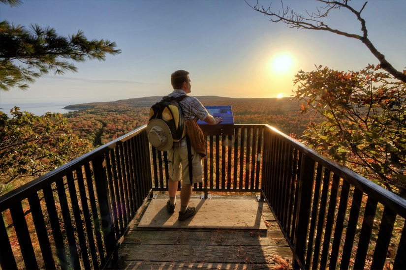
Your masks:
<path fill-rule="evenodd" d="M 312 201 L 312 187 L 315 162 L 312 158 L 302 154 L 302 165 L 299 178 L 299 193 L 297 204 L 296 231 L 294 232 L 295 253 L 301 264 L 305 261 L 306 239 L 310 220 L 310 205 Z M 295 261 L 295 267 L 300 267 Z"/>

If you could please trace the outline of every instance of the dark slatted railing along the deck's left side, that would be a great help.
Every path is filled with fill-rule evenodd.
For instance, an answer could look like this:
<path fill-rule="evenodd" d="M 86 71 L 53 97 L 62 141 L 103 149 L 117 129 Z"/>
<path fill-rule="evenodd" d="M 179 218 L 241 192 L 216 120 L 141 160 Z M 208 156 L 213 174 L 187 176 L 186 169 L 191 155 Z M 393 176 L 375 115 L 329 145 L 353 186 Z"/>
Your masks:
<path fill-rule="evenodd" d="M 100 269 L 152 188 L 145 126 L 0 197 L 2 269 Z"/>

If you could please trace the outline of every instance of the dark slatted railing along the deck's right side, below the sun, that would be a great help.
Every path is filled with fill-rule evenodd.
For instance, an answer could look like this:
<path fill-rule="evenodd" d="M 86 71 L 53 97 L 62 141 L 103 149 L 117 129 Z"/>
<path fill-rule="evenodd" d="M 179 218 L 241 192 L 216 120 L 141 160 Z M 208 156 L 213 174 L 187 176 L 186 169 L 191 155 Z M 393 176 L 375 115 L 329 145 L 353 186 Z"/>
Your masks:
<path fill-rule="evenodd" d="M 406 201 L 270 126 L 262 190 L 305 269 L 406 269 Z"/>

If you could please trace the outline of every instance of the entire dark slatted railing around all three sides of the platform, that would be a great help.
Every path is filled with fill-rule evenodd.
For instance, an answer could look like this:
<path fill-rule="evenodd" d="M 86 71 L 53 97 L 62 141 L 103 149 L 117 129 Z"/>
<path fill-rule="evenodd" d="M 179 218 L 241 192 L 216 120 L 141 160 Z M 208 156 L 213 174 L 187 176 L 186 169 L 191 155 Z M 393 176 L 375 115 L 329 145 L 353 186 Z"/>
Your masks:
<path fill-rule="evenodd" d="M 145 126 L 0 197 L 0 265 L 106 268 L 137 210 L 166 190 L 166 153 Z M 194 191 L 268 202 L 306 269 L 406 269 L 406 202 L 268 125 L 207 136 Z M 373 249 L 369 248 L 370 246 Z M 50 256 L 52 254 L 52 256 Z"/>

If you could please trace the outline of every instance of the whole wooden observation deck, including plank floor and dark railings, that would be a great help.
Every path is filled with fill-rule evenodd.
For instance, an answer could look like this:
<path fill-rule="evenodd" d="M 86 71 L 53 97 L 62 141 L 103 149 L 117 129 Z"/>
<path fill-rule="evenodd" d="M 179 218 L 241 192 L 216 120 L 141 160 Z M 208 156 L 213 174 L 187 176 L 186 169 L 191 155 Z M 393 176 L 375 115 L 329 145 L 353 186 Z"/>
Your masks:
<path fill-rule="evenodd" d="M 207 136 L 183 222 L 146 126 L 1 196 L 1 269 L 406 269 L 404 199 L 269 125 L 232 128 Z"/>

